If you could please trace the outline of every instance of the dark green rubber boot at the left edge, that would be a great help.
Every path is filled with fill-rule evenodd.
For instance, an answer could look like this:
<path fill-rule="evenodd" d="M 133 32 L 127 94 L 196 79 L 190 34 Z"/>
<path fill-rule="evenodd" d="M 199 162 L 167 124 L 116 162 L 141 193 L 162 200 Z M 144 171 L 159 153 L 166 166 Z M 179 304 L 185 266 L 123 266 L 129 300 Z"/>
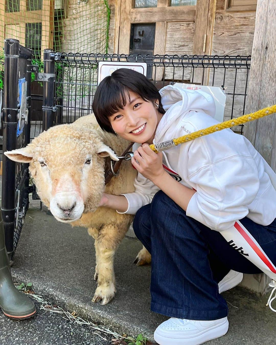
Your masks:
<path fill-rule="evenodd" d="M 19 292 L 12 282 L 10 260 L 5 247 L 4 225 L 0 210 L 0 308 L 13 319 L 28 319 L 36 313 L 32 300 Z"/>

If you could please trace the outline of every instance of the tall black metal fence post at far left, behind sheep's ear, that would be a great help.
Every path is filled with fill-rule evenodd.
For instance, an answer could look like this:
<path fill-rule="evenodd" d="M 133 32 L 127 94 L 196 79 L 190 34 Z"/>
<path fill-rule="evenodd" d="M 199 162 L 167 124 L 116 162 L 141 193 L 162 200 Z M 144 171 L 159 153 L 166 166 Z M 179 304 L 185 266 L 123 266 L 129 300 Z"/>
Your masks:
<path fill-rule="evenodd" d="M 4 100 L 3 100 L 3 152 L 16 149 L 18 114 L 18 60 L 19 40 L 4 40 Z M 3 157 L 2 216 L 5 229 L 5 243 L 10 261 L 13 261 L 15 177 L 16 163 Z"/>

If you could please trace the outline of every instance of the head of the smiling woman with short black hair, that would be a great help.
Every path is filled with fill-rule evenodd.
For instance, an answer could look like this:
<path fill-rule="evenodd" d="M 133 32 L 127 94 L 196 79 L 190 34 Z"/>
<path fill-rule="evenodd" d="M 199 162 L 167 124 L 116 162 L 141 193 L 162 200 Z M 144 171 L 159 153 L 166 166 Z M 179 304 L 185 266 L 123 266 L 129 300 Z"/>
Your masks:
<path fill-rule="evenodd" d="M 154 105 L 154 102 L 158 107 Z M 103 130 L 113 134 L 115 132 L 119 134 L 120 131 L 119 135 L 126 131 L 126 137 L 123 137 L 130 141 L 138 139 L 134 138 L 133 133 L 129 136 L 131 131 L 139 129 L 147 122 L 142 122 L 143 115 L 152 119 L 158 116 L 160 120 L 162 114 L 165 114 L 161 96 L 156 87 L 141 73 L 125 68 L 116 70 L 111 76 L 101 81 L 93 100 L 93 112 Z M 117 128 L 115 122 L 121 122 L 122 118 L 124 118 L 125 129 L 123 125 L 120 125 L 118 131 L 115 129 Z M 144 141 L 136 142 L 146 142 L 150 137 L 147 140 L 143 137 Z"/>

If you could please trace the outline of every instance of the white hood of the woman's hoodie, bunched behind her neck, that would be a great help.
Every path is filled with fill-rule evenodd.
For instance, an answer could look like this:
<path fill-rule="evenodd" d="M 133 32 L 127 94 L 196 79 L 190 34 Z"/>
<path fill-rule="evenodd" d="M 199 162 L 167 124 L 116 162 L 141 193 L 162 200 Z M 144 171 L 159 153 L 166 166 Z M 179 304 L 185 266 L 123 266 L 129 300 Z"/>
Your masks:
<path fill-rule="evenodd" d="M 168 85 L 159 91 L 161 102 L 166 113 L 162 116 L 155 138 L 159 138 L 178 117 L 185 116 L 185 112 L 204 112 L 214 118 L 216 113 L 215 101 L 209 93 L 202 90 L 180 89 Z"/>

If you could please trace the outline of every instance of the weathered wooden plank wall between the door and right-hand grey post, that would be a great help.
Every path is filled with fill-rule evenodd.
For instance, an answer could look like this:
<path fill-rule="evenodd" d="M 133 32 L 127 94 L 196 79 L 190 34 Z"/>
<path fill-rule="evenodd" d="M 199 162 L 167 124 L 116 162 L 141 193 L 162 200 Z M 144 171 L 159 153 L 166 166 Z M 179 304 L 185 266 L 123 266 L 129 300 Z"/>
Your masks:
<path fill-rule="evenodd" d="M 252 53 L 253 37 L 255 30 L 256 11 L 228 11 L 225 10 L 225 0 L 217 0 L 215 21 L 213 30 L 212 55 L 243 55 L 248 56 Z M 224 120 L 233 117 L 238 117 L 243 114 L 245 107 L 244 96 L 236 95 L 237 93 L 244 93 L 247 70 L 238 69 L 235 82 L 235 69 L 227 69 L 225 76 L 225 91 L 226 93 L 234 93 L 233 101 L 232 95 L 227 95 L 226 108 L 224 113 Z M 250 74 L 250 73 L 249 73 Z M 224 72 L 216 70 L 214 85 L 221 86 L 223 84 Z M 213 70 L 210 70 L 209 85 L 213 81 Z M 234 110 L 232 114 L 232 107 Z M 240 132 L 241 127 L 234 127 L 234 131 Z"/>

